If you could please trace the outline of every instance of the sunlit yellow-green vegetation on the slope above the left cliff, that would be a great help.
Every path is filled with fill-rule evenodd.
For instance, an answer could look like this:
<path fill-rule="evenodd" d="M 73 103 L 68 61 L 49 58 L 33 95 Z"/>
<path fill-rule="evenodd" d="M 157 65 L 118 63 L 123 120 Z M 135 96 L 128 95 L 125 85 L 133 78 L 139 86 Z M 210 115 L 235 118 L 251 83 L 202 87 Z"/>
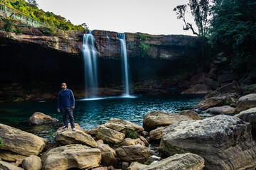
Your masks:
<path fill-rule="evenodd" d="M 27 16 L 31 16 L 42 23 L 46 23 L 48 26 L 61 30 L 88 30 L 85 23 L 75 26 L 63 16 L 57 16 L 52 12 L 45 12 L 39 9 L 36 0 L 28 0 L 28 2 L 26 0 L 0 0 L 0 4 L 15 8 Z"/>

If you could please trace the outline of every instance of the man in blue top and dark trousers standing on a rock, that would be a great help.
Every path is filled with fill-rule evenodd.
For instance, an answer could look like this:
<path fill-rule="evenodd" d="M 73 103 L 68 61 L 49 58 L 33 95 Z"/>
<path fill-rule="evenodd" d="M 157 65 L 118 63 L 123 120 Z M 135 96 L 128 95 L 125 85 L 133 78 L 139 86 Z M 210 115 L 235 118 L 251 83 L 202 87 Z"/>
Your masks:
<path fill-rule="evenodd" d="M 73 92 L 67 89 L 67 84 L 61 84 L 62 91 L 58 94 L 58 106 L 57 111 L 63 115 L 63 122 L 65 130 L 68 130 L 67 114 L 70 118 L 70 125 L 73 131 L 75 131 L 75 120 L 73 117 L 73 109 L 75 108 L 75 98 Z"/>

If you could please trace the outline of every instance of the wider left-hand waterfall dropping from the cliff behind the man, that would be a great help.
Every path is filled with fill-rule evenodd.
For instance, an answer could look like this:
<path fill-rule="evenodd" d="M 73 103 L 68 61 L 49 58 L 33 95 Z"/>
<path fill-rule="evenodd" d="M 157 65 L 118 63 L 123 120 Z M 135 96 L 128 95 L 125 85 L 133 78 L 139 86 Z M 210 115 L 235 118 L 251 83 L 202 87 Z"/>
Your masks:
<path fill-rule="evenodd" d="M 92 31 L 83 35 L 82 55 L 85 65 L 85 98 L 97 96 L 97 50 Z"/>

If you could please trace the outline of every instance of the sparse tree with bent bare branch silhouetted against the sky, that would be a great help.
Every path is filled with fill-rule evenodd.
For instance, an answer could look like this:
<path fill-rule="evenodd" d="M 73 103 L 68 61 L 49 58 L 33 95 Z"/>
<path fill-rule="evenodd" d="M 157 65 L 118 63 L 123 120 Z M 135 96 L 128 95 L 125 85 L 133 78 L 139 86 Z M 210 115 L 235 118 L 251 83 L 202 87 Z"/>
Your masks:
<path fill-rule="evenodd" d="M 177 18 L 183 20 L 185 23 L 183 30 L 192 30 L 195 35 L 206 36 L 206 26 L 208 24 L 208 17 L 210 16 L 209 0 L 189 0 L 188 6 L 191 8 L 191 14 L 196 22 L 198 33 L 194 30 L 192 23 L 186 22 L 186 4 L 174 8 Z"/>

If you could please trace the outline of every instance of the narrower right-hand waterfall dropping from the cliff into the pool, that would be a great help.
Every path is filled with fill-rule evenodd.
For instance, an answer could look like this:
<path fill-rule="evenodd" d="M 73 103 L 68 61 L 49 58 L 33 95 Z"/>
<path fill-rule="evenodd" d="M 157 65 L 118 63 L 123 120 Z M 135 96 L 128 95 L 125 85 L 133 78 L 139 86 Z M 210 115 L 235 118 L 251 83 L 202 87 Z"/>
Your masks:
<path fill-rule="evenodd" d="M 125 94 L 124 96 L 129 96 L 129 74 L 128 74 L 128 62 L 127 62 L 127 48 L 125 42 L 125 34 L 118 33 L 118 38 L 121 42 L 121 55 L 122 55 L 122 72 L 125 81 Z"/>

